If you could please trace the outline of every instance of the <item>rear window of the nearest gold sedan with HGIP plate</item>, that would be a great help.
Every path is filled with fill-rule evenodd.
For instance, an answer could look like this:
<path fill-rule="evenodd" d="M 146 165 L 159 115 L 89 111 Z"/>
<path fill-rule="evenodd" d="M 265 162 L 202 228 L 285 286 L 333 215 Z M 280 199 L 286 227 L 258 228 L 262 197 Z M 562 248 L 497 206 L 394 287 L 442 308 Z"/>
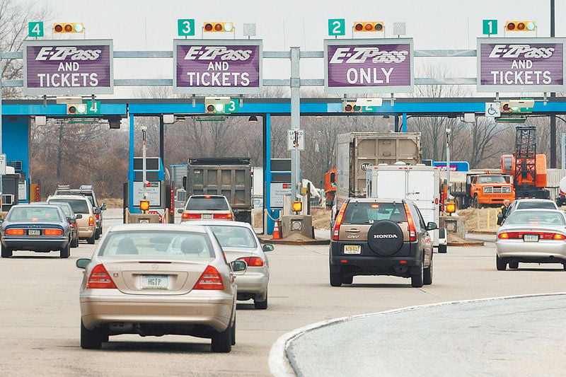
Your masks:
<path fill-rule="evenodd" d="M 207 233 L 180 231 L 120 231 L 106 236 L 98 255 L 212 258 L 214 248 Z"/>

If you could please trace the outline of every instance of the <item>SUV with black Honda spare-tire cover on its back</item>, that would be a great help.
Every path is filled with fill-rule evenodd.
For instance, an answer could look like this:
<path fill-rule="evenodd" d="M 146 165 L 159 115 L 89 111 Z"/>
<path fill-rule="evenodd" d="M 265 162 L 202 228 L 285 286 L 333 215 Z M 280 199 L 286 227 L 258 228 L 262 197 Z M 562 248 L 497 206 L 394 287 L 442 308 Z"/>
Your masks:
<path fill-rule="evenodd" d="M 356 275 L 410 277 L 432 284 L 432 240 L 417 206 L 408 199 L 349 198 L 336 216 L 330 241 L 330 285 Z"/>

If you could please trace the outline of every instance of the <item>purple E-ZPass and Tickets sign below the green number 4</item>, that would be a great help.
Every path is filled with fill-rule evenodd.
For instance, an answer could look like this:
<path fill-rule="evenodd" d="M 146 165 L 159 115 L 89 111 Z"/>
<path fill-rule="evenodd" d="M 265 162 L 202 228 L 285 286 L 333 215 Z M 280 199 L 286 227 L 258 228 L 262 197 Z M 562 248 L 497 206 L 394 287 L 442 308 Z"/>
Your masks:
<path fill-rule="evenodd" d="M 23 93 L 114 93 L 112 40 L 33 40 L 23 47 Z"/>

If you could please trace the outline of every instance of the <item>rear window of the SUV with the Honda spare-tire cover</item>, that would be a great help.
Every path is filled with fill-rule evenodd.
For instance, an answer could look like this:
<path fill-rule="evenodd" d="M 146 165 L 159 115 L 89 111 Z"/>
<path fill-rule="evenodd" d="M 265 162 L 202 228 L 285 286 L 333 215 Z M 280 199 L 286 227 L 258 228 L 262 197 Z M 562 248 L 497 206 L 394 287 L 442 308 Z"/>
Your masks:
<path fill-rule="evenodd" d="M 373 224 L 379 220 L 391 220 L 395 223 L 407 221 L 405 206 L 402 202 L 350 202 L 346 207 L 342 222 L 344 224 Z"/>

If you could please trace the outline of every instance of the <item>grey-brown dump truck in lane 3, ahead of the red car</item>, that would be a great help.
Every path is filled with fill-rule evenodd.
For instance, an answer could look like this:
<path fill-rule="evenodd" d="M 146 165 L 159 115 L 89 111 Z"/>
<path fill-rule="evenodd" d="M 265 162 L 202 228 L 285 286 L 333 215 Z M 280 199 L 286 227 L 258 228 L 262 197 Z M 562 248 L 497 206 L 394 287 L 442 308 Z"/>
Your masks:
<path fill-rule="evenodd" d="M 190 195 L 224 195 L 236 221 L 252 221 L 250 158 L 189 158 L 183 188 Z"/>

